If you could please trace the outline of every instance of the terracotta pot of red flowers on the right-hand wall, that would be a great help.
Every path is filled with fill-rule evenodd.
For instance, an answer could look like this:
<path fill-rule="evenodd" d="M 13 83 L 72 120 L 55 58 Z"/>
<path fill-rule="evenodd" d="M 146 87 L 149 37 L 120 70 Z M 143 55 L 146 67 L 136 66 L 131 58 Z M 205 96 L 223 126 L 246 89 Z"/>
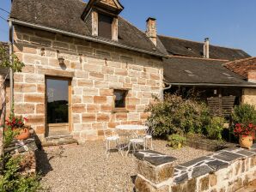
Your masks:
<path fill-rule="evenodd" d="M 253 146 L 255 130 L 256 126 L 253 125 L 253 123 L 235 124 L 234 134 L 239 137 L 239 144 L 241 145 L 241 147 L 250 149 Z"/>

